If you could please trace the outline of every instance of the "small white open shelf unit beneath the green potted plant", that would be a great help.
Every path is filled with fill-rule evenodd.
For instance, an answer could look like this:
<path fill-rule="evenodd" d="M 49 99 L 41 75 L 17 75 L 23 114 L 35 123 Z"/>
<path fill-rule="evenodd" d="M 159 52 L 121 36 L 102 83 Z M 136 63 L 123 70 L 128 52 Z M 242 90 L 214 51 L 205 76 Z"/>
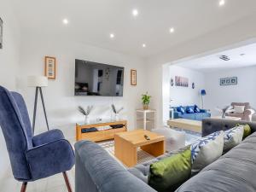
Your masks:
<path fill-rule="evenodd" d="M 154 109 L 136 110 L 136 129 L 151 131 L 156 128 L 156 111 Z"/>

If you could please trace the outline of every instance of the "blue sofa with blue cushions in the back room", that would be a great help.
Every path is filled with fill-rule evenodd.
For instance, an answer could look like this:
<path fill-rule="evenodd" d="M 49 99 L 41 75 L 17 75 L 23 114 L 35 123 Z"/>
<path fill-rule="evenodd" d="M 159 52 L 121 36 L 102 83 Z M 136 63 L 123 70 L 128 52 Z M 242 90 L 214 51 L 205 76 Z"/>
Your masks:
<path fill-rule="evenodd" d="M 174 119 L 202 120 L 202 119 L 211 117 L 211 113 L 208 113 L 206 109 L 198 108 L 196 105 L 180 106 L 180 107 L 172 107 L 172 108 L 174 110 L 173 112 Z M 190 111 L 189 111 L 189 108 L 190 108 Z M 170 112 L 170 118 L 171 117 L 172 117 L 172 112 Z"/>

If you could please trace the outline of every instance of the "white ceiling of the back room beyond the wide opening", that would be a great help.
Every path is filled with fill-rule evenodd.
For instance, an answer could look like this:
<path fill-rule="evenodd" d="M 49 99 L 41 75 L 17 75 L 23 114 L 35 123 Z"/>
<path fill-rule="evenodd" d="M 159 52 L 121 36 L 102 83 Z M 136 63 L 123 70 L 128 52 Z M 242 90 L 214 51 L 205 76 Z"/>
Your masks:
<path fill-rule="evenodd" d="M 185 61 L 178 64 L 178 66 L 194 69 L 204 73 L 239 67 L 253 67 L 256 66 L 255 53 L 256 44 L 248 44 L 240 48 L 225 50 L 218 54 L 207 55 L 199 59 Z M 221 55 L 228 55 L 230 57 L 230 61 L 220 60 L 219 56 Z"/>

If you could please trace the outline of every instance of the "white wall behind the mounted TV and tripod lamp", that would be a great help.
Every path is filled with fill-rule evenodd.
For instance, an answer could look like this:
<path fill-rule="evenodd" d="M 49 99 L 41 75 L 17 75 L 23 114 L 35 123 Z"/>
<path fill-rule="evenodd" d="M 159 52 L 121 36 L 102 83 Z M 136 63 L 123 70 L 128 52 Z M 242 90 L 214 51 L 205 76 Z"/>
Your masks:
<path fill-rule="evenodd" d="M 124 107 L 121 118 L 128 120 L 128 128 L 135 124 L 135 110 L 141 108 L 140 97 L 144 92 L 143 61 L 129 55 L 119 54 L 108 49 L 90 45 L 76 44 L 67 39 L 54 37 L 23 36 L 20 56 L 19 90 L 25 96 L 27 107 L 32 118 L 34 89 L 26 87 L 26 77 L 44 74 L 44 56 L 55 56 L 57 74 L 55 80 L 49 81 L 44 89 L 44 100 L 49 116 L 50 127 L 60 128 L 67 137 L 75 136 L 75 123 L 83 121 L 77 108 L 94 105 L 90 119 L 108 119 L 113 116 L 112 102 L 119 108 Z M 108 63 L 125 67 L 125 88 L 123 97 L 74 96 L 75 59 Z M 130 70 L 137 69 L 137 86 L 130 85 Z M 40 102 L 38 102 L 40 106 Z M 40 106 L 41 107 L 41 106 Z M 45 131 L 44 113 L 38 108 L 37 131 Z"/>

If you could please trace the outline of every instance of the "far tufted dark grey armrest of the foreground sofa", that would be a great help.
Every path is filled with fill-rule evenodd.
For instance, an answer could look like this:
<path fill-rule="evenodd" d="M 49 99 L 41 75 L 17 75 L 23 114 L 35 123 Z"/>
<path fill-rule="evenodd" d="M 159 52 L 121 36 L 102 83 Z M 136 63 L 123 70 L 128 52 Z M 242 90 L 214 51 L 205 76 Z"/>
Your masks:
<path fill-rule="evenodd" d="M 241 125 L 248 124 L 250 125 L 252 132 L 256 131 L 256 122 L 232 120 L 232 119 L 207 118 L 202 120 L 202 137 L 206 137 L 212 132 L 229 130 L 235 127 L 237 124 L 241 124 Z"/>

